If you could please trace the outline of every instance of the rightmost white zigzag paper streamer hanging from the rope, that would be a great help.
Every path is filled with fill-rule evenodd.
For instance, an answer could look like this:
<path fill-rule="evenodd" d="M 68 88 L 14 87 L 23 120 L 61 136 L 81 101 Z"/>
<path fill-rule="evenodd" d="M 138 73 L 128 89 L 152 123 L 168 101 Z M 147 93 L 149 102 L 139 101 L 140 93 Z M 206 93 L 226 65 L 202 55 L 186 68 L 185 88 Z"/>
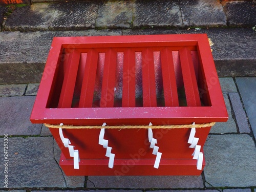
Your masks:
<path fill-rule="evenodd" d="M 195 122 L 193 122 L 193 125 Z M 201 145 L 198 145 L 199 138 L 195 137 L 196 135 L 196 128 L 191 128 L 189 138 L 187 143 L 191 144 L 189 148 L 195 148 L 194 153 L 192 154 L 193 159 L 197 159 L 197 169 L 202 170 L 203 166 L 203 153 L 200 152 Z"/>

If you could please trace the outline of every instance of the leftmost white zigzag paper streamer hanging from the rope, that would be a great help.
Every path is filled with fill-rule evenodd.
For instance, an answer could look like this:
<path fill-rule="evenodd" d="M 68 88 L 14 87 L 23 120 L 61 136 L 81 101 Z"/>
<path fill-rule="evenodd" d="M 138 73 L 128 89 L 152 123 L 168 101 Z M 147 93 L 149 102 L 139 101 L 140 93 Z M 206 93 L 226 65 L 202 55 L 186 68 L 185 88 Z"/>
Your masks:
<path fill-rule="evenodd" d="M 60 123 L 59 125 L 62 126 L 63 123 Z M 64 144 L 64 146 L 69 148 L 70 157 L 74 158 L 74 169 L 79 169 L 80 158 L 79 158 L 78 150 L 74 150 L 74 146 L 70 145 L 71 144 L 70 140 L 67 138 L 64 138 L 61 128 L 59 128 L 59 137 L 60 137 L 62 143 Z"/>

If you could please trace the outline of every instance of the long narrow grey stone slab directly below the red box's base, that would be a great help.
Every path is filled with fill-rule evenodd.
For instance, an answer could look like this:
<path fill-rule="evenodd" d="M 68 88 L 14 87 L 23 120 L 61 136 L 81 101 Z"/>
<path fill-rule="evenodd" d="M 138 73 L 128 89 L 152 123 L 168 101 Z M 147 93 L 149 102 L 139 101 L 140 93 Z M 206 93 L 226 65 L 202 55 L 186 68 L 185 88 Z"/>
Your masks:
<path fill-rule="evenodd" d="M 203 188 L 201 176 L 89 176 L 88 188 Z"/>

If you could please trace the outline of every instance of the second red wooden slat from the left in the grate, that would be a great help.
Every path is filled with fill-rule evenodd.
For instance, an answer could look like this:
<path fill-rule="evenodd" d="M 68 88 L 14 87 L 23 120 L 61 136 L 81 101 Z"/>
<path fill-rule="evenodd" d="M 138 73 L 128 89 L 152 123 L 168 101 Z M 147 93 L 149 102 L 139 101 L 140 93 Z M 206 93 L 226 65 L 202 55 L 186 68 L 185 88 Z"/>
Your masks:
<path fill-rule="evenodd" d="M 98 52 L 93 49 L 87 54 L 86 67 L 84 68 L 84 75 L 82 80 L 79 108 L 92 107 L 98 56 Z"/>

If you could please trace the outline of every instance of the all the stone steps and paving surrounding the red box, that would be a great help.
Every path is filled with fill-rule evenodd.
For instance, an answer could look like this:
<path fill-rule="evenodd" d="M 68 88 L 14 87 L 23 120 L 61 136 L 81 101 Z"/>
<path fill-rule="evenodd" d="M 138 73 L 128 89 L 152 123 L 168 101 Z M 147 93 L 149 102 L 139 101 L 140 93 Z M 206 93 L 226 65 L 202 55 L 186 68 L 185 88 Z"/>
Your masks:
<path fill-rule="evenodd" d="M 256 192 L 256 5 L 253 1 L 32 0 L 0 6 L 0 191 Z M 38 3 L 39 2 L 39 3 Z M 50 3 L 46 3 L 50 2 Z M 7 15 L 6 12 L 9 12 Z M 5 17 L 4 17 L 5 16 Z M 212 127 L 201 176 L 67 177 L 51 133 L 29 121 L 54 36 L 207 33 L 229 120 Z M 4 162 L 4 152 L 0 155 Z"/>

